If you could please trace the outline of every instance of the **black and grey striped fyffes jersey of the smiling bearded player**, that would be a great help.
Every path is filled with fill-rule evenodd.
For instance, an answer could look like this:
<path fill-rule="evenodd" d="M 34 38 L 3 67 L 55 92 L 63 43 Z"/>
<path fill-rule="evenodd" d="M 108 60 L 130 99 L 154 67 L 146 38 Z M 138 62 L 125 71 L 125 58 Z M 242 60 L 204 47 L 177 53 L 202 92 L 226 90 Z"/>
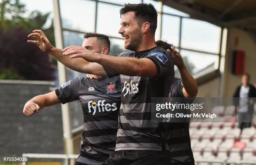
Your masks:
<path fill-rule="evenodd" d="M 151 97 L 167 97 L 174 79 L 174 63 L 167 51 L 154 47 L 146 51 L 125 52 L 118 56 L 148 58 L 157 68 L 154 78 L 121 77 L 122 104 L 118 115 L 115 150 L 168 150 L 161 124 L 151 120 Z M 109 76 L 116 75 L 105 68 Z"/>

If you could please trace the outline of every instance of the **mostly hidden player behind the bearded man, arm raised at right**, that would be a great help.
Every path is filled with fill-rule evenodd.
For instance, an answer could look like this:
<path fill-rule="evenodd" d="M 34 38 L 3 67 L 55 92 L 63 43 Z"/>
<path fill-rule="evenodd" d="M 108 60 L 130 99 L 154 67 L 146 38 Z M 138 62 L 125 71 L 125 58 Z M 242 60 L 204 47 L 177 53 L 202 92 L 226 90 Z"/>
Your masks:
<path fill-rule="evenodd" d="M 193 76 L 187 71 L 185 63 L 180 53 L 172 44 L 165 41 L 156 41 L 156 45 L 167 50 L 179 69 L 181 79 L 174 78 L 169 98 L 195 98 L 197 96 L 197 83 Z M 188 99 L 187 102 L 191 102 Z M 165 137 L 170 148 L 172 157 L 171 165 L 195 165 L 195 160 L 191 148 L 189 137 L 189 122 L 165 123 Z M 178 137 L 178 138 L 177 138 Z"/>

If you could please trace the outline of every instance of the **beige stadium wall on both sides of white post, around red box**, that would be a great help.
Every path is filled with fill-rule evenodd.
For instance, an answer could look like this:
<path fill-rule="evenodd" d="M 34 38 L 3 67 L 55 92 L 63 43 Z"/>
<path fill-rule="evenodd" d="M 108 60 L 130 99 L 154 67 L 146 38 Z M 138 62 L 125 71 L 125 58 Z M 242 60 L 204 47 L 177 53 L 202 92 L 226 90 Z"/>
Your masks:
<path fill-rule="evenodd" d="M 235 44 L 235 38 L 238 43 Z M 228 29 L 225 64 L 222 72 L 223 80 L 212 79 L 199 86 L 198 97 L 218 97 L 219 88 L 222 88 L 223 97 L 232 97 L 236 86 L 241 84 L 241 75 L 232 74 L 232 53 L 234 50 L 242 50 L 246 53 L 245 71 L 251 74 L 251 83 L 256 83 L 256 43 L 246 31 Z"/>

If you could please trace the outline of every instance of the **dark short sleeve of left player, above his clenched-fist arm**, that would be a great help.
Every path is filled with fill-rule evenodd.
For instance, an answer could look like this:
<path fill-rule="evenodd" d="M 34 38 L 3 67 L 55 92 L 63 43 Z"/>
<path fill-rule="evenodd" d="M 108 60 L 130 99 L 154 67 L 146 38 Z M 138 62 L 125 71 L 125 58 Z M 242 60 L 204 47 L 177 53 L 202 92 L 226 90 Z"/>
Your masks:
<path fill-rule="evenodd" d="M 55 93 L 62 104 L 78 99 L 79 88 L 86 78 L 76 78 L 67 81 L 55 90 Z"/>

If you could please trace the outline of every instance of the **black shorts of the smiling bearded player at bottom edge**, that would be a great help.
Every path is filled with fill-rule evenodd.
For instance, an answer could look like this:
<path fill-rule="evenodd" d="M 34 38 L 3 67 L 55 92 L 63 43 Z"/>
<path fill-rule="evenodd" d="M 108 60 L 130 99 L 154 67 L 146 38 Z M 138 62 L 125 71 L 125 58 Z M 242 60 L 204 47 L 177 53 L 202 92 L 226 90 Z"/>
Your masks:
<path fill-rule="evenodd" d="M 103 165 L 170 165 L 169 151 L 120 150 L 110 154 Z"/>

